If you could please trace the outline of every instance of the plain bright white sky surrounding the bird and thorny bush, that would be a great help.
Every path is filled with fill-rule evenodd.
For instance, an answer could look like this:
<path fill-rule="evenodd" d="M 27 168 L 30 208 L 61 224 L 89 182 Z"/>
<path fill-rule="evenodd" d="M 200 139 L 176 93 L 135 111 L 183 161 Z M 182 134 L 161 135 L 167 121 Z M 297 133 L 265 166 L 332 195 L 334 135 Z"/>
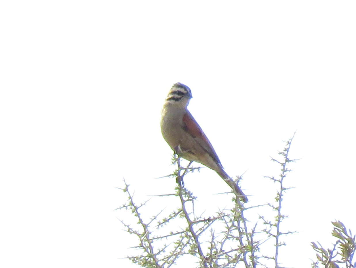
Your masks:
<path fill-rule="evenodd" d="M 249 205 L 273 198 L 262 176 L 297 130 L 283 227 L 300 233 L 281 261 L 310 267 L 332 220 L 356 232 L 355 14 L 355 1 L 2 1 L 1 267 L 137 267 L 120 259 L 135 241 L 114 187 L 173 192 L 154 178 L 174 169 L 159 120 L 176 82 L 227 173 L 246 172 Z M 202 204 L 228 190 L 208 168 L 186 183 Z"/>

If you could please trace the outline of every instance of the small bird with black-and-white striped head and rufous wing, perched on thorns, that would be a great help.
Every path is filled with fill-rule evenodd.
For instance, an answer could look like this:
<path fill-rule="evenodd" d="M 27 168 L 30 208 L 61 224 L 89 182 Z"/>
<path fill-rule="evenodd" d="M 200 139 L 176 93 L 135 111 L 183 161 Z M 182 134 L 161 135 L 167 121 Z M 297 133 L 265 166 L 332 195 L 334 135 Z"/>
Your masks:
<path fill-rule="evenodd" d="M 179 157 L 195 161 L 215 170 L 231 187 L 237 197 L 245 203 L 247 196 L 225 172 L 220 159 L 205 133 L 188 111 L 192 91 L 182 83 L 176 83 L 169 90 L 161 117 L 161 131 L 164 140 Z"/>

